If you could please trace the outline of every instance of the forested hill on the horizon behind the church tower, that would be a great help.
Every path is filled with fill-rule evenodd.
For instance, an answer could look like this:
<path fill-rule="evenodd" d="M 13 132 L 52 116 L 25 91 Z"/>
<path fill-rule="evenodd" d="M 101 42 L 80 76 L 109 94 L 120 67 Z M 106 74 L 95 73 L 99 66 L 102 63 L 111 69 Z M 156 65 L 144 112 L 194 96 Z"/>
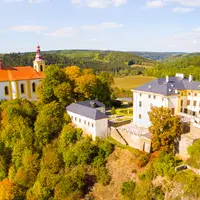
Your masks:
<path fill-rule="evenodd" d="M 133 53 L 115 51 L 63 50 L 42 52 L 47 65 L 58 64 L 61 67 L 77 65 L 81 68 L 96 70 L 117 70 L 131 65 L 147 66 L 153 61 Z M 3 56 L 7 66 L 32 66 L 35 53 L 11 53 Z"/>

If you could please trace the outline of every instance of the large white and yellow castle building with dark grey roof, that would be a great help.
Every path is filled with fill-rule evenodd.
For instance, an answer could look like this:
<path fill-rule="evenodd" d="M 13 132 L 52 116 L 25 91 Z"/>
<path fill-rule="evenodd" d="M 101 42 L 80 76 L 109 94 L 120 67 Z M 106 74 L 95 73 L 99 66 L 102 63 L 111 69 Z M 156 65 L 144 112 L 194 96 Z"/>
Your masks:
<path fill-rule="evenodd" d="M 198 117 L 200 114 L 200 82 L 184 74 L 159 78 L 142 85 L 133 92 L 133 123 L 148 128 L 151 125 L 148 112 L 151 107 L 169 108 L 172 114 L 183 113 Z"/>

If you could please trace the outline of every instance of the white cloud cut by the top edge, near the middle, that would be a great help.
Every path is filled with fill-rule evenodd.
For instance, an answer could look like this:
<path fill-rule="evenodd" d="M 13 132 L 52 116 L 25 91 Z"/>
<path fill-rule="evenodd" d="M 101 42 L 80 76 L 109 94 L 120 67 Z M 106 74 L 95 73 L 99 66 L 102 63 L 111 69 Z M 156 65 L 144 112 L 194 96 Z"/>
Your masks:
<path fill-rule="evenodd" d="M 127 2 L 128 0 L 72 0 L 73 4 L 90 8 L 106 8 L 108 6 L 118 7 Z"/>

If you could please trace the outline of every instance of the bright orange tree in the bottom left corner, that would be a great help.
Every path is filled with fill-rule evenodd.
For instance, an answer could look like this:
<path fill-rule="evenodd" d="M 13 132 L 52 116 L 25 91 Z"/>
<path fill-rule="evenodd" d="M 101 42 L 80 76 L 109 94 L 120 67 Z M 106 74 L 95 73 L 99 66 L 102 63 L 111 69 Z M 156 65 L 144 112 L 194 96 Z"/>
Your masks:
<path fill-rule="evenodd" d="M 24 195 L 22 190 L 9 181 L 4 179 L 0 182 L 0 199 L 1 200 L 23 200 Z"/>

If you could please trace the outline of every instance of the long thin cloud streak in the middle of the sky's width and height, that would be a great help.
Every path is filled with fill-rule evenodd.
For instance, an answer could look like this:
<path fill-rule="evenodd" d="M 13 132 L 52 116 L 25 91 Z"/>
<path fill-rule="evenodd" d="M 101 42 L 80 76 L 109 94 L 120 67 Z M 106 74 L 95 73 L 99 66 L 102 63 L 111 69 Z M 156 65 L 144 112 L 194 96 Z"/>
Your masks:
<path fill-rule="evenodd" d="M 121 28 L 121 27 L 123 27 L 123 24 L 117 24 L 115 22 L 103 22 L 97 25 L 82 26 L 81 29 L 98 31 L 98 30 Z"/>

